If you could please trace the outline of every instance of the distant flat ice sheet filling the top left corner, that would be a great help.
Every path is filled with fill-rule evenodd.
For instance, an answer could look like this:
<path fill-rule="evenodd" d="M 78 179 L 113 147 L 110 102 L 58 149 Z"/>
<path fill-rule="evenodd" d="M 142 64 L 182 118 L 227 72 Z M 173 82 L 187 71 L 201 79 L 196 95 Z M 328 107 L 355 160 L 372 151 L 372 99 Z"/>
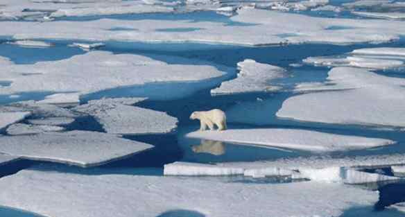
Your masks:
<path fill-rule="evenodd" d="M 173 8 L 146 4 L 144 1 L 29 1 L 3 0 L 0 19 L 46 20 L 52 17 L 122 15 L 147 12 L 173 12 Z M 160 2 L 157 2 L 160 3 Z M 162 4 L 162 3 L 160 3 Z M 47 17 L 47 19 L 44 19 Z"/>

